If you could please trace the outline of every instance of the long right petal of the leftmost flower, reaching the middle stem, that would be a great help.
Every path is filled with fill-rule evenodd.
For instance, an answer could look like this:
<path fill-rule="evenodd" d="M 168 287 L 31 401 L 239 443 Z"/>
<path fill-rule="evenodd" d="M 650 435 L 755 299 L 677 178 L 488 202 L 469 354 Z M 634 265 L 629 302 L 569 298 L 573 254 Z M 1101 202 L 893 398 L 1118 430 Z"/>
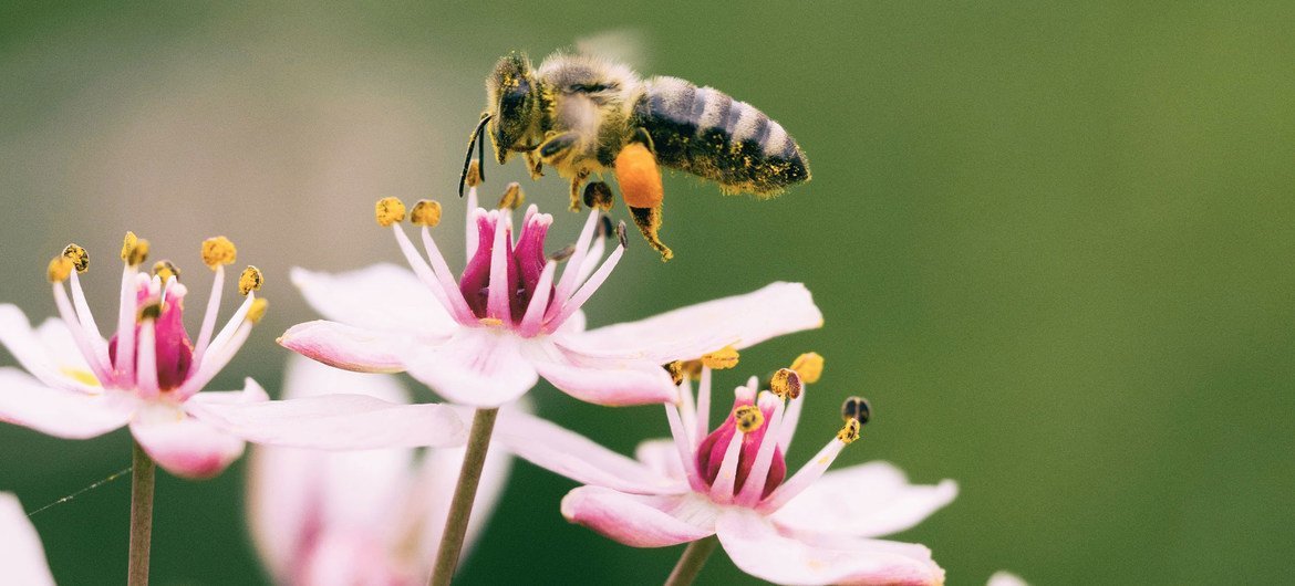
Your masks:
<path fill-rule="evenodd" d="M 461 445 L 462 420 L 445 405 L 401 405 L 366 395 L 328 395 L 256 404 L 220 404 L 196 395 L 185 409 L 256 444 L 324 450 Z"/>

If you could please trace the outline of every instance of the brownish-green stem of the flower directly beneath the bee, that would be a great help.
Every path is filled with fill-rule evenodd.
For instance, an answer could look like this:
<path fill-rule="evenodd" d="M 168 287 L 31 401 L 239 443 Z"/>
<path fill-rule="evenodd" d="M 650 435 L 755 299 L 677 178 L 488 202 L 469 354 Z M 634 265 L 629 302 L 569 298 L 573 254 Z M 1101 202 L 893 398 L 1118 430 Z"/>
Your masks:
<path fill-rule="evenodd" d="M 458 555 L 464 551 L 464 534 L 467 533 L 467 519 L 473 514 L 477 485 L 482 480 L 482 467 L 486 466 L 486 451 L 490 450 L 490 436 L 495 431 L 496 415 L 499 409 L 478 409 L 473 414 L 473 427 L 467 432 L 467 451 L 464 453 L 458 484 L 449 501 L 445 530 L 440 536 L 436 564 L 431 570 L 431 586 L 447 586 L 455 577 L 455 569 L 458 568 Z"/>

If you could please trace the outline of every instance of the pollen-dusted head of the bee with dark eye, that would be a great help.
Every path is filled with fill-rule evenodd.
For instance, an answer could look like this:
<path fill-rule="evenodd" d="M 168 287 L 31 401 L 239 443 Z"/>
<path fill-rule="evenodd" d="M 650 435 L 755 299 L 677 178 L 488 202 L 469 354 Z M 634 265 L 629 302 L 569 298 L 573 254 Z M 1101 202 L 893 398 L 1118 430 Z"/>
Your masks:
<path fill-rule="evenodd" d="M 539 81 L 526 54 L 514 52 L 500 58 L 486 80 L 486 93 L 492 115 L 487 129 L 495 144 L 495 158 L 504 163 L 513 151 L 534 149 L 536 145 L 527 140 L 537 135 L 544 109 L 540 107 Z"/>

